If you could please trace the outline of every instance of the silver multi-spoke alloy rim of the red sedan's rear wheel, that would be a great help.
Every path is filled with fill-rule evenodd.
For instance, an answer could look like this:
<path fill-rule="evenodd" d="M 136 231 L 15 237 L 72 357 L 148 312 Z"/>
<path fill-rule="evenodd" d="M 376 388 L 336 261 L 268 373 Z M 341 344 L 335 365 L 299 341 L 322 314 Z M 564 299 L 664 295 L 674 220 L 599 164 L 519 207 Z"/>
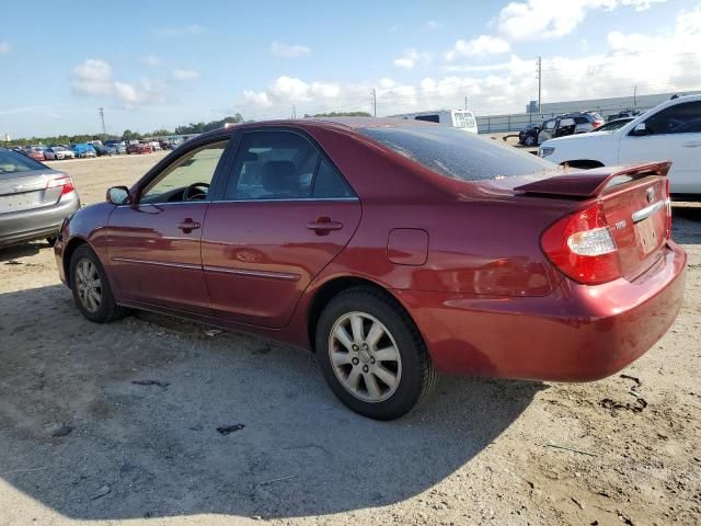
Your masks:
<path fill-rule="evenodd" d="M 402 359 L 394 338 L 377 318 L 348 312 L 329 335 L 329 358 L 341 385 L 365 402 L 381 402 L 397 391 Z"/>

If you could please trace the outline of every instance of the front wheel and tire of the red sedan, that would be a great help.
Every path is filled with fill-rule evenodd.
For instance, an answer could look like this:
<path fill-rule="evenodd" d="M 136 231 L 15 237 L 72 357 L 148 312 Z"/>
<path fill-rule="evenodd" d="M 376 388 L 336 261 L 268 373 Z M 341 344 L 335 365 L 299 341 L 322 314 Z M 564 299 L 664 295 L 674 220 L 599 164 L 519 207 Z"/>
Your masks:
<path fill-rule="evenodd" d="M 108 323 L 128 313 L 115 302 L 107 275 L 89 245 L 81 244 L 76 249 L 69 272 L 73 300 L 87 319 L 95 323 Z"/>

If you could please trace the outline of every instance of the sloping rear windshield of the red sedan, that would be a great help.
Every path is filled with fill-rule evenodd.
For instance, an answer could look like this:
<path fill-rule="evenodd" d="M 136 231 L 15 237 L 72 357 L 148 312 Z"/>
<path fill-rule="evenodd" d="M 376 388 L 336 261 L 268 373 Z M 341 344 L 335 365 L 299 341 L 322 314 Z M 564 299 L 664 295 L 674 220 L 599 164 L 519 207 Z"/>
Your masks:
<path fill-rule="evenodd" d="M 361 128 L 360 133 L 441 175 L 463 181 L 556 170 L 550 161 L 448 126 Z"/>

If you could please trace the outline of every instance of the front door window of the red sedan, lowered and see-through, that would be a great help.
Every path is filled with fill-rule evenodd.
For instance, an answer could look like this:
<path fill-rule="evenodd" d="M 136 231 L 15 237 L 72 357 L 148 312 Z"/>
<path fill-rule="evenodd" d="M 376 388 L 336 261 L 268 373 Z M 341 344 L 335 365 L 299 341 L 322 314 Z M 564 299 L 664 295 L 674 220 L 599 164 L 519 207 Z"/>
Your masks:
<path fill-rule="evenodd" d="M 189 194 L 188 201 L 206 199 L 207 190 L 217 170 L 217 164 L 227 148 L 227 140 L 203 146 L 188 151 L 165 168 L 141 192 L 141 203 L 165 203 L 184 201 L 188 186 L 199 183 L 198 190 Z"/>

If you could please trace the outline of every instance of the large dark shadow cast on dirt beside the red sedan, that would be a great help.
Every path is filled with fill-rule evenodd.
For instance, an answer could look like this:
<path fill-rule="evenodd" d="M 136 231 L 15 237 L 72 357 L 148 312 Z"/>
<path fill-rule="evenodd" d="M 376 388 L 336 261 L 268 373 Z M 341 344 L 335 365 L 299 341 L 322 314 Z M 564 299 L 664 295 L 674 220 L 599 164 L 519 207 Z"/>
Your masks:
<path fill-rule="evenodd" d="M 257 338 L 153 316 L 93 324 L 58 285 L 0 295 L 0 476 L 76 518 L 395 503 L 470 461 L 544 387 L 444 378 L 421 410 L 379 423 L 335 400 L 311 354 Z M 72 430 L 51 436 L 60 424 Z"/>

